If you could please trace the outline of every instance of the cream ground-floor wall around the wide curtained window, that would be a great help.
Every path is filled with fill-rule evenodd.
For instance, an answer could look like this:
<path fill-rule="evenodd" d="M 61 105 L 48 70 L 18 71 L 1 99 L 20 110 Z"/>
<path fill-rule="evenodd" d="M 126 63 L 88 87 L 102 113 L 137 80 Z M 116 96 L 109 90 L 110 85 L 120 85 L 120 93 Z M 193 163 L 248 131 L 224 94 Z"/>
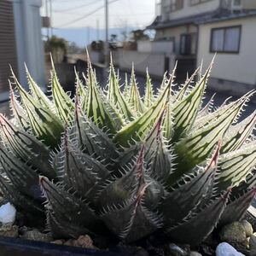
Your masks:
<path fill-rule="evenodd" d="M 214 61 L 212 69 L 212 87 L 219 90 L 247 91 L 255 88 L 256 84 L 256 18 L 228 20 L 204 24 L 199 27 L 199 42 L 197 65 L 201 60 L 205 64 L 212 61 L 213 53 L 210 53 L 211 29 L 222 26 L 241 25 L 241 44 L 239 54 L 219 53 Z M 236 81 L 232 83 L 232 81 Z M 238 85 L 240 84 L 240 85 Z M 241 86 L 241 88 L 238 88 Z"/>

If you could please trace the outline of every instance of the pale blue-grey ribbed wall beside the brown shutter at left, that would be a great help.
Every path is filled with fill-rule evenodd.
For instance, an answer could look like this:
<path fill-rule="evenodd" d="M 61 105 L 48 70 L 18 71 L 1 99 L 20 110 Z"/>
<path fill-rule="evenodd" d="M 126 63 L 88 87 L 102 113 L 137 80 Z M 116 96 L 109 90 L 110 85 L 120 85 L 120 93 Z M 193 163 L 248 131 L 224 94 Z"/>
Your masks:
<path fill-rule="evenodd" d="M 42 0 L 13 0 L 20 83 L 26 86 L 24 62 L 32 77 L 44 85 L 44 45 L 39 9 Z"/>

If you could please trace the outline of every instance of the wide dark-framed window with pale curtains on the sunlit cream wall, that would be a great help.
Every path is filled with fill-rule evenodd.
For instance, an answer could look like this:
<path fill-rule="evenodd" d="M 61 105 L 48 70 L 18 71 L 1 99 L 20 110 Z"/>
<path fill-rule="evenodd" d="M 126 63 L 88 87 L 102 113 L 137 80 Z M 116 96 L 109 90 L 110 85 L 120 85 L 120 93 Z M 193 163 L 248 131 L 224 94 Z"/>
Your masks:
<path fill-rule="evenodd" d="M 213 28 L 211 52 L 238 53 L 240 48 L 241 26 Z"/>

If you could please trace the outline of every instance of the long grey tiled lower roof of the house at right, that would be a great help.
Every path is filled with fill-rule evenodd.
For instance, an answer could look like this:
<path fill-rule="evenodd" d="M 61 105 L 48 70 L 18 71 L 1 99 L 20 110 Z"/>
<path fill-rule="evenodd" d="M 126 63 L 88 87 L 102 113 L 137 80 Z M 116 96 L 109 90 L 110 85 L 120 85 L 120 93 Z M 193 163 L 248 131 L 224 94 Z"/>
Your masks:
<path fill-rule="evenodd" d="M 147 26 L 148 29 L 160 29 L 172 26 L 182 26 L 187 24 L 204 24 L 218 22 L 221 20 L 235 20 L 245 17 L 256 16 L 256 9 L 241 10 L 239 12 L 231 13 L 230 10 L 216 9 L 211 12 L 202 13 L 201 15 L 190 15 L 188 17 L 179 18 L 175 20 L 160 20 L 160 16 L 157 16 L 151 25 Z"/>

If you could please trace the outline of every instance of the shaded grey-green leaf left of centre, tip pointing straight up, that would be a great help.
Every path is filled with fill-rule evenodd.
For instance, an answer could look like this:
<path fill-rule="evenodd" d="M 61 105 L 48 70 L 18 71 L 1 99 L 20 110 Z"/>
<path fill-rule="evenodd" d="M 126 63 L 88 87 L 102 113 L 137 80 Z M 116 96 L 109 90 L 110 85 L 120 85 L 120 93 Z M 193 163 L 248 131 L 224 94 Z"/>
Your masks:
<path fill-rule="evenodd" d="M 70 131 L 65 132 L 59 152 L 53 157 L 53 165 L 59 180 L 78 195 L 94 200 L 88 195 L 90 190 L 99 190 L 109 175 L 106 166 L 92 156 L 83 154 L 76 142 L 73 142 Z M 91 193 L 90 193 L 91 194 Z"/>

